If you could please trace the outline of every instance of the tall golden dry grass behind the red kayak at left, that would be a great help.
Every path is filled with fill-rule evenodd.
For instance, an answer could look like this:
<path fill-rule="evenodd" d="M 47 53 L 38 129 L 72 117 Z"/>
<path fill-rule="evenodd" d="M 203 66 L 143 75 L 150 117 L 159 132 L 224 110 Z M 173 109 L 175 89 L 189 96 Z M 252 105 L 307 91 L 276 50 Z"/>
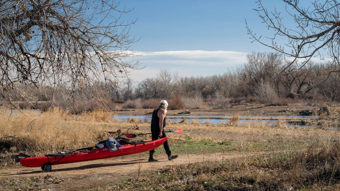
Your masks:
<path fill-rule="evenodd" d="M 43 113 L 0 113 L 0 139 L 12 137 L 3 141 L 10 142 L 18 152 L 48 154 L 93 146 L 107 137 L 105 126 L 98 122 L 110 121 L 111 117 L 99 110 L 80 116 L 57 108 Z"/>

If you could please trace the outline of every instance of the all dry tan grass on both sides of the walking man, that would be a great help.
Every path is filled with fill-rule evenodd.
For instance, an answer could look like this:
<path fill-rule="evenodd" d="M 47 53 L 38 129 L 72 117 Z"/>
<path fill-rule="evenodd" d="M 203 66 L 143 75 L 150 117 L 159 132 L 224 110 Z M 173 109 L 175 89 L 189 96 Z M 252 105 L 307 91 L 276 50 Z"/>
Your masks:
<path fill-rule="evenodd" d="M 92 146 L 104 140 L 107 131 L 121 129 L 125 133 L 148 133 L 150 122 L 115 121 L 105 117 L 103 111 L 67 115 L 63 110 L 30 112 L 26 115 L 0 114 L 0 138 L 14 136 L 7 152 L 28 151 L 35 155 Z M 103 117 L 101 117 L 103 116 Z M 100 121 L 98 121 L 100 120 Z M 237 122 L 237 120 L 235 119 Z M 140 122 L 140 121 L 139 121 Z M 250 153 L 241 157 L 215 163 L 189 164 L 165 168 L 156 175 L 140 174 L 140 180 L 125 188 L 137 188 L 143 179 L 151 189 L 178 190 L 323 190 L 339 189 L 340 185 L 340 133 L 318 128 L 291 128 L 282 120 L 275 125 L 245 123 L 237 126 L 210 123 L 169 122 L 165 130 L 182 128 L 184 133 L 167 134 L 170 147 L 212 142 L 214 147 L 232 145 L 223 152 Z M 194 125 L 193 125 L 194 124 Z M 5 136 L 6 135 L 6 136 Z M 139 139 L 150 139 L 140 136 Z M 6 139 L 6 141 L 9 141 Z M 216 146 L 217 145 L 217 146 Z M 184 154 L 184 153 L 178 153 Z M 122 183 L 124 184 L 124 183 Z M 139 186 L 138 186 L 139 187 Z"/>

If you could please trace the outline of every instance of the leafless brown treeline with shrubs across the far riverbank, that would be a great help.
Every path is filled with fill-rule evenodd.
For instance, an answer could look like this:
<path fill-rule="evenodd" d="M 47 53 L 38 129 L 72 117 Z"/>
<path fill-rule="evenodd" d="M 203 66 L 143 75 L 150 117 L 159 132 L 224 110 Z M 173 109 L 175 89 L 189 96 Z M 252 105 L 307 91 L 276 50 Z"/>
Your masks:
<path fill-rule="evenodd" d="M 57 103 L 63 107 L 71 106 L 73 110 L 93 109 L 98 103 L 109 109 L 154 108 L 159 99 L 169 100 L 174 109 L 224 109 L 231 103 L 286 105 L 300 100 L 316 104 L 325 100 L 338 101 L 340 75 L 339 72 L 329 72 L 335 67 L 330 62 L 289 66 L 282 56 L 275 53 L 253 52 L 247 55 L 247 62 L 242 66 L 219 75 L 180 77 L 177 73 L 161 70 L 156 77 L 137 84 L 127 79 L 121 85 L 97 82 L 68 92 L 48 88 L 38 91 L 34 90 L 35 87 L 27 92 L 30 92 L 30 100 L 36 103 L 46 101 L 45 107 Z M 73 100 L 65 100 L 64 97 L 70 96 L 63 95 L 74 91 L 83 91 L 84 96 L 77 94 L 78 97 L 73 97 Z M 24 102 L 25 96 L 28 97 L 15 91 L 13 95 L 16 95 L 14 101 Z M 78 102 L 74 103 L 74 100 Z"/>

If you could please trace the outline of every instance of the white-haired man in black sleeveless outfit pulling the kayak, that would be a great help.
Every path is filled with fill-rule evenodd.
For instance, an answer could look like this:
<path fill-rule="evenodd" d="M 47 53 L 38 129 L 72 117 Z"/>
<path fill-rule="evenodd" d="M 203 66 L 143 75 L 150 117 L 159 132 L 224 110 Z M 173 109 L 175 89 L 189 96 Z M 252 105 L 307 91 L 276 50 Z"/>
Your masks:
<path fill-rule="evenodd" d="M 159 137 L 166 137 L 164 127 L 165 127 L 165 114 L 167 113 L 168 102 L 166 100 L 160 101 L 158 108 L 153 110 L 151 117 L 151 134 L 152 140 L 157 140 Z M 168 155 L 168 159 L 172 160 L 178 157 L 178 155 L 171 155 L 169 142 L 166 140 L 163 144 L 165 152 Z M 153 154 L 155 153 L 155 149 L 150 151 L 149 162 L 158 161 L 153 158 Z"/>

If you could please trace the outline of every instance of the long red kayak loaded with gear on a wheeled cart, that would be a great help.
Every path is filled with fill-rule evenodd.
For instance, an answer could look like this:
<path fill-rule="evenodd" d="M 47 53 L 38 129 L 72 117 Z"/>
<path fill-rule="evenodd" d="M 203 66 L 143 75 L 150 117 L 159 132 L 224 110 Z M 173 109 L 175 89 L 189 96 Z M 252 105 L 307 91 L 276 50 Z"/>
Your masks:
<path fill-rule="evenodd" d="M 117 146 L 118 149 L 114 151 L 104 146 L 92 151 L 81 151 L 81 149 L 78 149 L 36 157 L 20 153 L 19 155 L 12 155 L 12 158 L 16 158 L 16 161 L 19 161 L 24 167 L 41 167 L 42 170 L 51 171 L 51 165 L 77 163 L 151 151 L 162 145 L 167 139 L 168 137 L 164 137 L 157 140 L 142 141 L 136 145 L 119 145 Z M 25 158 L 19 159 L 19 157 Z"/>

